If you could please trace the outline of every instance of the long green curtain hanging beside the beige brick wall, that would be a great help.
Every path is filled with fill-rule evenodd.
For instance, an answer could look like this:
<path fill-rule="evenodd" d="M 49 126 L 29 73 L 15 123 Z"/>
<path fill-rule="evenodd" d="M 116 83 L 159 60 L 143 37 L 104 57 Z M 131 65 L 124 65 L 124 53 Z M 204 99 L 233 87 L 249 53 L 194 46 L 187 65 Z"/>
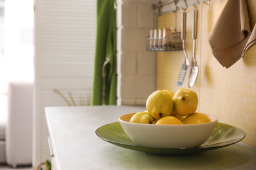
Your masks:
<path fill-rule="evenodd" d="M 91 105 L 102 105 L 102 66 L 106 57 L 106 105 L 116 105 L 116 0 L 97 1 L 95 70 Z"/>

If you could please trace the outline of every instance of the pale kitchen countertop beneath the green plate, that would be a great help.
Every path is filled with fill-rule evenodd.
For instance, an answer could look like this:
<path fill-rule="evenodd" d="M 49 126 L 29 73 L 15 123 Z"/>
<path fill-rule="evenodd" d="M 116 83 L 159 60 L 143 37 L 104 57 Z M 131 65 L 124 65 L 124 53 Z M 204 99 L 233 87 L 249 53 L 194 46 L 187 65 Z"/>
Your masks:
<path fill-rule="evenodd" d="M 256 169 L 256 148 L 242 142 L 179 156 L 146 154 L 102 141 L 95 130 L 144 107 L 47 107 L 57 169 Z"/>

